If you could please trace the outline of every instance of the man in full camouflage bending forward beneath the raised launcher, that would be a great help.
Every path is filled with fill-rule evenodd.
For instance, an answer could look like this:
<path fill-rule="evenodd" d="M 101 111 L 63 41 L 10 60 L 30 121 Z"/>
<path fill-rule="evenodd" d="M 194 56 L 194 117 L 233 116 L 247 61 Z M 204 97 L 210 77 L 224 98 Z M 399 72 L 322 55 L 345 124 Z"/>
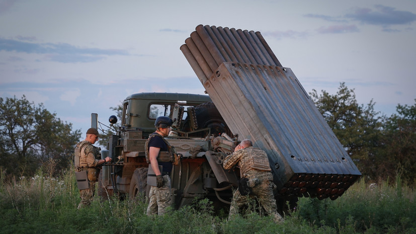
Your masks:
<path fill-rule="evenodd" d="M 234 152 L 225 158 L 223 167 L 228 170 L 237 164 L 240 167 L 241 179 L 232 196 L 229 217 L 238 213 L 249 197 L 256 196 L 275 222 L 282 222 L 284 219 L 277 212 L 273 195 L 275 185 L 266 152 L 260 148 L 253 148 L 252 141 L 244 139 L 235 147 Z M 247 194 L 249 196 L 246 196 Z"/>

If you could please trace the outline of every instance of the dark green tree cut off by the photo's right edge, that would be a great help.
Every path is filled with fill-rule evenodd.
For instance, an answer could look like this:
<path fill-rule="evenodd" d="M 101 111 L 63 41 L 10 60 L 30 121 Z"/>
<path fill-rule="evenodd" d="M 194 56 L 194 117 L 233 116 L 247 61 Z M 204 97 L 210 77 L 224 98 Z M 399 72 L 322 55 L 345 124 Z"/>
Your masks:
<path fill-rule="evenodd" d="M 401 173 L 409 184 L 416 184 L 416 99 L 413 106 L 396 107 L 397 114 L 386 118 L 383 126 L 382 146 L 374 159 L 374 173 L 380 179 L 392 178 Z"/>

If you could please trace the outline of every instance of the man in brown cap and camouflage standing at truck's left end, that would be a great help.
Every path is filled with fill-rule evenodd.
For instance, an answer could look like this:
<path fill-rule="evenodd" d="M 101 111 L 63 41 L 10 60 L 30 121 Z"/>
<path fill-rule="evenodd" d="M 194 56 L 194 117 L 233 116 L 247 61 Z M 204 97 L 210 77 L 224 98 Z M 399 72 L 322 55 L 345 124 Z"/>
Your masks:
<path fill-rule="evenodd" d="M 78 142 L 75 147 L 75 171 L 87 171 L 89 183 L 88 189 L 79 190 L 81 201 L 78 204 L 78 209 L 91 204 L 95 193 L 95 183 L 98 181 L 100 173 L 98 166 L 111 161 L 110 157 L 100 159 L 100 148 L 93 145 L 99 136 L 97 129 L 89 128 L 85 140 Z"/>

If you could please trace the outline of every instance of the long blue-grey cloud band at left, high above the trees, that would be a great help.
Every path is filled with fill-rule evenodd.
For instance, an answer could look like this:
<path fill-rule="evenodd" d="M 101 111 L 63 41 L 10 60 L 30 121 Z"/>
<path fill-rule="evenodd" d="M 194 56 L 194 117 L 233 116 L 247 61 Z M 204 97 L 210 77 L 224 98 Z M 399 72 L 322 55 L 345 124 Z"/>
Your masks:
<path fill-rule="evenodd" d="M 18 38 L 34 40 L 32 37 Z M 79 48 L 67 43 L 31 43 L 14 39 L 0 38 L 0 51 L 46 54 L 46 59 L 62 63 L 94 62 L 111 55 L 129 55 L 126 50 Z"/>

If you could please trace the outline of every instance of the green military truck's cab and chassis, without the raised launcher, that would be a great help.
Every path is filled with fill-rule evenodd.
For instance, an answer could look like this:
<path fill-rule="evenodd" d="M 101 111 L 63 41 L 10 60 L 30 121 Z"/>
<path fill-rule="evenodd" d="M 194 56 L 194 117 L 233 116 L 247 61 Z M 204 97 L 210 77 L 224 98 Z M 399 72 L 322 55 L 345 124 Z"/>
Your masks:
<path fill-rule="evenodd" d="M 195 197 L 229 204 L 237 178 L 221 164 L 238 141 L 209 96 L 197 94 L 140 93 L 126 98 L 117 134 L 110 136 L 107 149 L 101 151 L 112 162 L 102 169 L 99 195 L 148 196 L 144 144 L 155 131 L 158 116 L 175 119 L 173 131 L 165 138 L 182 155 L 171 174 L 175 206 L 190 204 Z M 117 122 L 115 116 L 109 120 Z"/>

